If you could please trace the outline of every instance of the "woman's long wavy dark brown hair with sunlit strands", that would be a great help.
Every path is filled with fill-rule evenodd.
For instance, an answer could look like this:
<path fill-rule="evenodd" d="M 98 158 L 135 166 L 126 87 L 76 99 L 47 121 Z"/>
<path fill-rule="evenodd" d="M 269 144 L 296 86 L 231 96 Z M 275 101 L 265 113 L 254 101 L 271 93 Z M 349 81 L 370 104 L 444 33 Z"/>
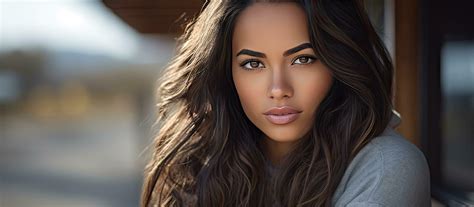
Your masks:
<path fill-rule="evenodd" d="M 334 82 L 312 129 L 270 177 L 262 132 L 246 117 L 231 73 L 236 17 L 254 2 L 206 1 L 178 39 L 158 88 L 161 125 L 142 207 L 330 206 L 350 161 L 389 123 L 393 66 L 363 3 L 296 0 Z"/>

